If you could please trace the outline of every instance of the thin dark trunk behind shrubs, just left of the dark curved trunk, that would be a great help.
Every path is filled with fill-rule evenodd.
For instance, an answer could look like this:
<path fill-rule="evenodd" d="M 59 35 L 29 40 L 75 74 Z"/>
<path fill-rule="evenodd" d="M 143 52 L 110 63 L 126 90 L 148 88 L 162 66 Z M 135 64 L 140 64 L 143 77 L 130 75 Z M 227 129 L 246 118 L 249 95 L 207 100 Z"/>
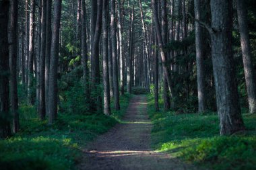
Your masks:
<path fill-rule="evenodd" d="M 82 65 L 83 65 L 83 84 L 86 101 L 89 101 L 89 72 L 88 72 L 88 50 L 86 42 L 86 2 L 82 0 Z"/>

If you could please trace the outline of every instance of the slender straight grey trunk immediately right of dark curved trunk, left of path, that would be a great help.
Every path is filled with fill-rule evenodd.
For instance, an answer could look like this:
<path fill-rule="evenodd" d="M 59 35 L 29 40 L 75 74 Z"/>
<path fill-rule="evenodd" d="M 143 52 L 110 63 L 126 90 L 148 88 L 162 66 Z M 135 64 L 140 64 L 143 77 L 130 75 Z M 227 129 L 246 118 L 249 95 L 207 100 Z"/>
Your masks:
<path fill-rule="evenodd" d="M 108 75 L 108 0 L 103 1 L 103 88 L 104 114 L 110 115 L 110 93 Z"/>

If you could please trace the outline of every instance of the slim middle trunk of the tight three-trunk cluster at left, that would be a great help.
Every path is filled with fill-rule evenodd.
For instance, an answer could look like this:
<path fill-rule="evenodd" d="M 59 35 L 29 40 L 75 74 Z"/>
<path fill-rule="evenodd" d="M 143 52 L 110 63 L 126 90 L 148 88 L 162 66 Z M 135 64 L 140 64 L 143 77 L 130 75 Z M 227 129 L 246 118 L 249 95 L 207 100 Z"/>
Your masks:
<path fill-rule="evenodd" d="M 52 40 L 52 0 L 46 3 L 46 49 L 45 49 L 45 109 L 49 114 L 49 72 L 51 60 L 51 40 Z"/>

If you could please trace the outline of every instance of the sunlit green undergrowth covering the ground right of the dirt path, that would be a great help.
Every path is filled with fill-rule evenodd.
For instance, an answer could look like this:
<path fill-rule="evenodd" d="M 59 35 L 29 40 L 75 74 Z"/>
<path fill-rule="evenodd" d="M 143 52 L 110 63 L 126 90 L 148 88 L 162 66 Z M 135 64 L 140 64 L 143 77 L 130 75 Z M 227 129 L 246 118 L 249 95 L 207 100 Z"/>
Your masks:
<path fill-rule="evenodd" d="M 148 100 L 156 150 L 210 169 L 256 169 L 256 115 L 243 114 L 246 134 L 219 136 L 216 114 L 155 112 L 154 98 Z"/>

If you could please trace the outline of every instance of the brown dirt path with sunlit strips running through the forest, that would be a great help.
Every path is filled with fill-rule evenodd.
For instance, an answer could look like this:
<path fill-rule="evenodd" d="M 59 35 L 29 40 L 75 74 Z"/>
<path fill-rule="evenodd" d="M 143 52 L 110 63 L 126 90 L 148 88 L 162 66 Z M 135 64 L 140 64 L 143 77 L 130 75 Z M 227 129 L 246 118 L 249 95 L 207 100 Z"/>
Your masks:
<path fill-rule="evenodd" d="M 131 99 L 123 121 L 99 136 L 84 151 L 80 169 L 196 169 L 150 148 L 152 123 L 146 113 L 146 97 Z"/>

